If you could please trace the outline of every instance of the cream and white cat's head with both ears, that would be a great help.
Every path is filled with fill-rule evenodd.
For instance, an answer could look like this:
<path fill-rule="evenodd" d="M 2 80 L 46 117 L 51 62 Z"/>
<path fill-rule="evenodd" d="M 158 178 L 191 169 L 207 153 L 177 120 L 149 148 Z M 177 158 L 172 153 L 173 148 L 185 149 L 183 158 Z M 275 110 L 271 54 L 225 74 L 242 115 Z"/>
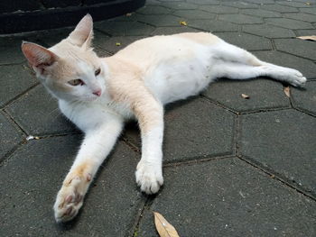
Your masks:
<path fill-rule="evenodd" d="M 87 14 L 69 37 L 50 49 L 23 41 L 22 50 L 53 96 L 68 101 L 93 101 L 105 92 L 107 67 L 91 48 L 92 38 L 92 17 Z"/>

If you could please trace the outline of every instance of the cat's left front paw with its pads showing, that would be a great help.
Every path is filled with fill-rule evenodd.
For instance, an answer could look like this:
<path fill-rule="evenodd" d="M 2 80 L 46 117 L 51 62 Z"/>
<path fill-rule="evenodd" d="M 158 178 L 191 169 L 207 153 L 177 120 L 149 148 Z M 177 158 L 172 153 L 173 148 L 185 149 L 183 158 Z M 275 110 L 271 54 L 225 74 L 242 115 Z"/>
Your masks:
<path fill-rule="evenodd" d="M 68 222 L 78 214 L 83 204 L 83 197 L 87 192 L 89 181 L 90 178 L 81 178 L 79 176 L 66 178 L 57 194 L 53 207 L 56 222 Z"/>

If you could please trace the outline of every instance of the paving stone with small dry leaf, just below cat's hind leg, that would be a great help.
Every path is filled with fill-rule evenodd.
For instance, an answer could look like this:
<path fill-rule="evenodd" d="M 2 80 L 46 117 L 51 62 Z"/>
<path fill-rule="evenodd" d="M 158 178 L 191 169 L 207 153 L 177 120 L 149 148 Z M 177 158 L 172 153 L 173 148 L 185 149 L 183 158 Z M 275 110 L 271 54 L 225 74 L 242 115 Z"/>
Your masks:
<path fill-rule="evenodd" d="M 250 98 L 244 99 L 241 94 Z M 219 80 L 211 84 L 203 95 L 238 112 L 290 107 L 283 85 L 269 79 Z"/>

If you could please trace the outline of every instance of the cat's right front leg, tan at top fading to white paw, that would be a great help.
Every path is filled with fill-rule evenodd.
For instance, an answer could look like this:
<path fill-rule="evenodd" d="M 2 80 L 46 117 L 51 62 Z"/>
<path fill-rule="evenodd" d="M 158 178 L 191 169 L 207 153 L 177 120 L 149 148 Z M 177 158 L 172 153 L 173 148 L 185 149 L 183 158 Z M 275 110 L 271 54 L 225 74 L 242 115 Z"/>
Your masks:
<path fill-rule="evenodd" d="M 135 176 L 146 194 L 154 194 L 163 186 L 163 105 L 152 96 L 144 96 L 135 106 L 142 134 L 142 159 Z"/>

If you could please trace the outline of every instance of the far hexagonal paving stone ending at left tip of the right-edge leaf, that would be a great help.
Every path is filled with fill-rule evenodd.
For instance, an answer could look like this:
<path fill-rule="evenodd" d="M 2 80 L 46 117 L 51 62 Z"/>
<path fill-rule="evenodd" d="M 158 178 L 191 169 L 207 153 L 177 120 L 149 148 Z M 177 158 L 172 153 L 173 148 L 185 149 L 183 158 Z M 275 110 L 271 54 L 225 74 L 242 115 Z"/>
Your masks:
<path fill-rule="evenodd" d="M 243 32 L 253 33 L 256 35 L 264 36 L 267 38 L 290 38 L 295 37 L 295 34 L 293 31 L 275 27 L 272 25 L 244 25 L 243 26 Z"/>

